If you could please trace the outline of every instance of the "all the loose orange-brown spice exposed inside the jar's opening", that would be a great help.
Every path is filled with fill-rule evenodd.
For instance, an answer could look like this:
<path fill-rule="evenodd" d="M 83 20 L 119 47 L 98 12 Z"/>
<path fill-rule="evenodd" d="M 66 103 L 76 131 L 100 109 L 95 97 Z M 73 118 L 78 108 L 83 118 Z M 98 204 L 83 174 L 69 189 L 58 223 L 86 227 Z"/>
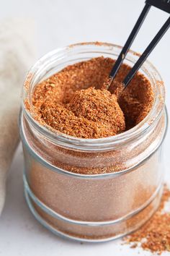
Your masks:
<path fill-rule="evenodd" d="M 138 73 L 117 101 L 103 87 L 113 64 L 109 58 L 90 59 L 40 82 L 32 93 L 32 116 L 49 129 L 82 138 L 109 137 L 135 126 L 151 109 L 151 84 Z M 129 69 L 122 65 L 115 84 Z"/>

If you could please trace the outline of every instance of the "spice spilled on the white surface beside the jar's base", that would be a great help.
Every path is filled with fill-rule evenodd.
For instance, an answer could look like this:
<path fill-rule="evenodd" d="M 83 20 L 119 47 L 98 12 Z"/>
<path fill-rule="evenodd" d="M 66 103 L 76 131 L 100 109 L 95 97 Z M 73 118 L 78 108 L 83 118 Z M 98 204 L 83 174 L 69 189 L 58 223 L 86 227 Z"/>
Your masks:
<path fill-rule="evenodd" d="M 157 252 L 170 252 L 170 208 L 164 209 L 166 203 L 170 204 L 170 190 L 165 186 L 161 204 L 154 216 L 135 233 L 125 237 L 125 241 L 135 248 L 140 243 L 143 249 Z"/>

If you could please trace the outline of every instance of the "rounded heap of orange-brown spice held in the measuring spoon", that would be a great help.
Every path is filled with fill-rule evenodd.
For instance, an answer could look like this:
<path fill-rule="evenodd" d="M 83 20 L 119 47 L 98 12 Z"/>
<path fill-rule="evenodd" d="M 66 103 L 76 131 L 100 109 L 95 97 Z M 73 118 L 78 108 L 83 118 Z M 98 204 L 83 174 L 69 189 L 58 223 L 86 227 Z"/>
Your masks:
<path fill-rule="evenodd" d="M 106 129 L 104 134 L 117 135 L 125 131 L 125 117 L 117 97 L 107 90 L 78 90 L 66 108 L 80 118 L 102 124 L 102 129 Z"/>

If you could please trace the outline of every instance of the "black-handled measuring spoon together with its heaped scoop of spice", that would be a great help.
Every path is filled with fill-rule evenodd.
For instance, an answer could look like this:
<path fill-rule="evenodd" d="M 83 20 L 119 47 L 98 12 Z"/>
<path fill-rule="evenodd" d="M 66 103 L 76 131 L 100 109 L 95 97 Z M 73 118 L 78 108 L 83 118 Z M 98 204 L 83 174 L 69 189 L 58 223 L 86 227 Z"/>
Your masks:
<path fill-rule="evenodd" d="M 111 127 L 112 132 L 114 132 L 112 135 L 117 135 L 125 131 L 125 116 L 122 113 L 122 109 L 120 108 L 118 103 L 118 99 L 120 98 L 122 91 L 125 90 L 125 88 L 127 88 L 130 81 L 134 77 L 135 73 L 138 72 L 138 69 L 140 69 L 143 62 L 146 61 L 149 54 L 151 54 L 151 51 L 153 51 L 153 48 L 155 48 L 159 40 L 161 40 L 163 35 L 166 33 L 166 31 L 170 27 L 170 17 L 169 17 L 169 19 L 164 23 L 164 25 L 158 31 L 158 33 L 153 38 L 151 43 L 148 45 L 146 50 L 140 56 L 138 61 L 135 63 L 133 68 L 130 69 L 130 72 L 127 74 L 125 79 L 122 82 L 117 82 L 116 80 L 114 80 L 117 74 L 117 71 L 120 69 L 120 65 L 122 64 L 122 61 L 125 59 L 126 54 L 128 54 L 128 50 L 132 45 L 133 40 L 135 39 L 135 36 L 138 34 L 138 30 L 140 29 L 143 21 L 145 20 L 149 9 L 151 9 L 151 6 L 157 7 L 158 9 L 161 9 L 161 10 L 164 10 L 165 12 L 170 13 L 170 0 L 164 0 L 164 1 L 146 0 L 146 5 L 140 14 L 140 17 L 138 18 L 135 24 L 135 27 L 130 33 L 129 38 L 125 43 L 125 46 L 122 48 L 122 51 L 117 58 L 117 61 L 115 61 L 115 65 L 113 66 L 109 74 L 109 77 L 107 78 L 107 80 L 104 82 L 102 86 L 102 89 L 105 89 L 105 91 L 109 90 L 109 92 L 112 94 L 109 93 L 106 95 L 104 90 L 100 92 L 99 90 L 93 90 L 93 88 L 89 88 L 88 90 L 81 90 L 77 92 L 73 96 L 71 102 L 68 104 L 68 108 L 71 111 L 75 112 L 75 109 L 76 109 L 76 114 L 77 114 L 77 109 L 79 109 L 81 116 L 84 116 L 90 120 L 92 119 L 93 121 L 95 120 L 97 122 L 100 121 L 104 123 L 105 121 L 107 123 L 105 129 L 108 130 L 108 127 Z M 104 98 L 105 98 L 105 103 L 107 103 L 107 105 L 104 104 Z M 108 102 L 112 102 L 112 108 L 108 107 Z M 102 113 L 102 116 L 101 116 L 101 113 Z M 144 112 L 144 116 L 143 115 L 140 116 L 140 118 L 138 119 L 138 122 L 140 122 L 140 120 L 142 120 L 146 116 L 146 114 L 147 113 Z M 97 127 L 97 129 L 101 129 L 101 127 L 100 128 Z"/>

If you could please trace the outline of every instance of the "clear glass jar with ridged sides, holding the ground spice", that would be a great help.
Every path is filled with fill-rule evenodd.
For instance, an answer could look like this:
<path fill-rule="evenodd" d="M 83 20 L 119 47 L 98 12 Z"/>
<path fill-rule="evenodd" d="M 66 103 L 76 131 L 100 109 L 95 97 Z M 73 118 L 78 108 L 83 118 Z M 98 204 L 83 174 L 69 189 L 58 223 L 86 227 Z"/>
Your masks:
<path fill-rule="evenodd" d="M 117 59 L 120 51 L 109 43 L 80 43 L 43 56 L 27 74 L 19 118 L 25 196 L 35 218 L 60 236 L 89 242 L 115 239 L 148 221 L 160 202 L 167 114 L 164 85 L 151 63 L 146 61 L 140 72 L 153 87 L 153 107 L 140 124 L 120 135 L 80 139 L 57 134 L 37 123 L 24 106 L 25 98 L 31 103 L 37 82 L 68 64 L 97 56 Z M 137 59 L 129 51 L 125 63 L 132 66 Z"/>

